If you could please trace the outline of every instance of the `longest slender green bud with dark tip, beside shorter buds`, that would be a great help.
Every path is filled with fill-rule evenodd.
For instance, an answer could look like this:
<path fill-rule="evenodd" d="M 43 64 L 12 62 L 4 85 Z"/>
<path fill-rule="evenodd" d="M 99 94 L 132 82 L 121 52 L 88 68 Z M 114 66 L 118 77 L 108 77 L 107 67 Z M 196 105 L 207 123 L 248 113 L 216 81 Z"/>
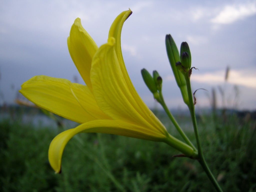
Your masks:
<path fill-rule="evenodd" d="M 173 70 L 173 74 L 176 80 L 176 83 L 180 89 L 180 92 L 182 94 L 182 98 L 184 103 L 189 105 L 188 102 L 188 92 L 187 92 L 187 85 L 186 85 L 186 80 L 184 75 L 177 69 L 176 63 L 180 61 L 180 55 L 178 48 L 172 38 L 171 35 L 166 35 L 165 37 L 165 45 L 166 45 L 166 51 L 167 51 L 167 56 L 170 62 L 170 65 Z"/>

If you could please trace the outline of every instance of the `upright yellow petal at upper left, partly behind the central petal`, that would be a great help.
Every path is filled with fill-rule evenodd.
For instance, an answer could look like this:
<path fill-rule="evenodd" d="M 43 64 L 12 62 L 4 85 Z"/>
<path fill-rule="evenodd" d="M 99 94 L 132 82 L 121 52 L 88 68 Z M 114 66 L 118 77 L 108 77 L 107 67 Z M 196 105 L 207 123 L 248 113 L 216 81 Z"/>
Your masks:
<path fill-rule="evenodd" d="M 67 41 L 70 56 L 84 82 L 91 90 L 91 62 L 98 47 L 87 31 L 82 27 L 80 18 L 74 21 Z"/>

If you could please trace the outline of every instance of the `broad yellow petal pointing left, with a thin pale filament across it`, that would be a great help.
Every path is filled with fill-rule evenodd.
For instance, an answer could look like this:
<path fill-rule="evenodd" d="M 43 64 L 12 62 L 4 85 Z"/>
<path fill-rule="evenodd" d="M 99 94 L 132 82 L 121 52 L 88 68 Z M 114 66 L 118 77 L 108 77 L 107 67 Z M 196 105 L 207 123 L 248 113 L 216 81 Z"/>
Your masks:
<path fill-rule="evenodd" d="M 74 97 L 70 88 L 72 88 L 82 106 Z M 44 75 L 35 76 L 24 82 L 19 92 L 41 108 L 78 123 L 95 119 L 110 119 L 100 111 L 87 86 L 71 83 L 67 79 Z M 84 108 L 90 113 L 85 111 Z"/>

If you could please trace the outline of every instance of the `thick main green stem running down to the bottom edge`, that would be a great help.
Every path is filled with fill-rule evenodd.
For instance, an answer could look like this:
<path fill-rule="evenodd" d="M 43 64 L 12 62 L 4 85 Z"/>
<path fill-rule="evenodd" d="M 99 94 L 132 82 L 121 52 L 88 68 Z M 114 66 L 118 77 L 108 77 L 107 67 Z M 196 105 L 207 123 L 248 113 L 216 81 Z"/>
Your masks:
<path fill-rule="evenodd" d="M 207 166 L 207 163 L 205 161 L 204 155 L 202 153 L 202 147 L 201 147 L 201 142 L 200 142 L 200 138 L 199 138 L 199 134 L 198 134 L 198 129 L 197 129 L 197 123 L 196 123 L 196 114 L 195 114 L 195 106 L 194 106 L 194 101 L 192 98 L 192 91 L 191 91 L 191 86 L 190 86 L 190 79 L 188 76 L 185 76 L 185 80 L 186 80 L 186 84 L 187 84 L 187 91 L 188 91 L 188 101 L 189 101 L 189 111 L 190 111 L 190 115 L 192 118 L 192 122 L 193 122 L 193 127 L 194 127 L 194 132 L 195 132 L 195 136 L 196 136 L 196 142 L 197 142 L 197 148 L 198 148 L 198 157 L 199 157 L 199 163 L 201 164 L 202 168 L 204 169 L 204 171 L 206 172 L 208 178 L 211 180 L 212 184 L 214 185 L 215 189 L 217 191 L 222 191 L 222 189 L 220 188 L 217 180 L 215 179 L 215 177 L 212 175 L 209 167 Z"/>

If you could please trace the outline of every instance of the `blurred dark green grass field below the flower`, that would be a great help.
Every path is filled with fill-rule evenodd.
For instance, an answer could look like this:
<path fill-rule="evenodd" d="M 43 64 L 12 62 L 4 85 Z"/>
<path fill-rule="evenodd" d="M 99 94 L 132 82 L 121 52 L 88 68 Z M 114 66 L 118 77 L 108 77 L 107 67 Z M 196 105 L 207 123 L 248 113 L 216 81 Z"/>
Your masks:
<path fill-rule="evenodd" d="M 161 114 L 159 114 L 161 115 Z M 167 121 L 166 117 L 159 117 Z M 235 113 L 200 115 L 206 161 L 224 191 L 256 191 L 255 119 Z M 177 118 L 189 124 L 186 119 Z M 67 144 L 62 173 L 48 162 L 48 147 L 61 130 L 35 129 L 1 119 L 0 191 L 213 191 L 199 163 L 172 157 L 179 152 L 164 143 L 109 134 L 78 134 Z M 176 136 L 172 126 L 169 132 Z M 185 129 L 193 143 L 193 132 Z M 178 137 L 178 136 L 177 136 Z"/>

